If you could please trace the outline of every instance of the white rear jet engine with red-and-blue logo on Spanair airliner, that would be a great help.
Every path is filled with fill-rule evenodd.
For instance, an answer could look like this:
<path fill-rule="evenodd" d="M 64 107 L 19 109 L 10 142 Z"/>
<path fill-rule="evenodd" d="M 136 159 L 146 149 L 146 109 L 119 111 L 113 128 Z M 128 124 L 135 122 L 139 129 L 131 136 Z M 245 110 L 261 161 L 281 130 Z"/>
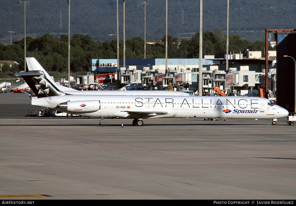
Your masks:
<path fill-rule="evenodd" d="M 68 113 L 91 113 L 101 108 L 100 100 L 69 101 L 57 105 L 57 110 Z"/>

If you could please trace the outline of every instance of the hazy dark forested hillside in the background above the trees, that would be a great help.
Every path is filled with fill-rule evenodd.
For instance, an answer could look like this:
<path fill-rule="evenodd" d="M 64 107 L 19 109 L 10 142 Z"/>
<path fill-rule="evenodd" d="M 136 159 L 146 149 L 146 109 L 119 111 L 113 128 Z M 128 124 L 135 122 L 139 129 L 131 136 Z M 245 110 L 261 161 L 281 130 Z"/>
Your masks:
<path fill-rule="evenodd" d="M 139 0 L 126 0 L 126 39 L 144 39 L 144 6 L 138 7 Z M 151 0 L 146 7 L 146 38 L 160 39 L 165 35 L 165 0 Z M 0 43 L 10 43 L 23 38 L 24 7 L 17 0 L 2 0 L 0 7 Z M 26 7 L 26 33 L 40 37 L 51 33 L 59 37 L 68 32 L 67 1 L 31 0 Z M 264 31 L 269 29 L 295 28 L 296 1 L 247 1 L 230 2 L 229 30 L 242 39 L 264 41 Z M 200 2 L 194 0 L 168 1 L 168 34 L 191 38 L 199 31 Z M 119 0 L 120 39 L 123 39 L 123 2 Z M 116 38 L 116 1 L 72 0 L 71 33 L 89 34 L 93 40 Z M 203 30 L 226 31 L 227 1 L 203 1 Z"/>

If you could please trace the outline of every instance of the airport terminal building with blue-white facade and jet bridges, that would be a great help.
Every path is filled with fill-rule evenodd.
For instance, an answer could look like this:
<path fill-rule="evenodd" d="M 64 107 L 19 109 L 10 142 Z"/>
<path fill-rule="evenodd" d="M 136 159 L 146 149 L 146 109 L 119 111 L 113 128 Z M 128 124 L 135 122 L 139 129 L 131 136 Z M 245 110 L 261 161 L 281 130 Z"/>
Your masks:
<path fill-rule="evenodd" d="M 276 90 L 276 54 L 271 52 L 268 60 L 270 90 Z M 90 71 L 94 75 L 112 73 L 123 85 L 137 84 L 142 89 L 162 90 L 171 81 L 175 90 L 198 91 L 199 59 L 168 59 L 168 68 L 165 68 L 165 59 L 119 59 L 117 72 L 117 59 L 91 59 Z M 214 56 L 205 55 L 202 59 L 203 91 L 204 94 L 215 93 L 213 87 L 237 95 L 259 94 L 259 88 L 264 82 L 265 58 L 261 52 L 249 51 L 247 58 L 242 54 L 229 55 L 229 69 L 226 71 L 226 56 L 224 59 L 215 59 Z M 262 78 L 263 77 L 263 78 Z M 106 83 L 106 82 L 105 82 Z M 115 81 L 113 81 L 115 85 Z M 113 88 L 113 87 L 110 87 Z M 250 91 L 252 91 L 250 93 Z"/>

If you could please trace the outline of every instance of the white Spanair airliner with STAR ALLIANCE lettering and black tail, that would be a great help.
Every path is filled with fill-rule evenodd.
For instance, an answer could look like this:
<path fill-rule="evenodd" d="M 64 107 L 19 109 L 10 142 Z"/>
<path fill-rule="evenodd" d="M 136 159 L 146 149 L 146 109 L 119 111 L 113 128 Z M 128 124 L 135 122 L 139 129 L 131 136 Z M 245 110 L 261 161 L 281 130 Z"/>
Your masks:
<path fill-rule="evenodd" d="M 288 116 L 288 111 L 260 97 L 164 96 L 164 95 L 73 95 L 59 90 L 43 72 L 20 72 L 34 96 L 32 105 L 57 109 L 80 116 L 152 118 L 273 119 Z"/>

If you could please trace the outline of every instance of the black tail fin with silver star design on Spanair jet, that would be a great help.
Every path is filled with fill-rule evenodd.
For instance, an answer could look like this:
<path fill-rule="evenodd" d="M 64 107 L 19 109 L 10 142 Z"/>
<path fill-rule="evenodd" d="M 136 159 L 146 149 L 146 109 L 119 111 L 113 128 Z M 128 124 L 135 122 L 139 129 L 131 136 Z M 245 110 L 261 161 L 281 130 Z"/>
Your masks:
<path fill-rule="evenodd" d="M 38 98 L 65 95 L 63 91 L 59 90 L 54 84 L 52 84 L 51 81 L 47 79 L 44 72 L 22 71 L 16 73 L 15 75 L 21 76 Z"/>

